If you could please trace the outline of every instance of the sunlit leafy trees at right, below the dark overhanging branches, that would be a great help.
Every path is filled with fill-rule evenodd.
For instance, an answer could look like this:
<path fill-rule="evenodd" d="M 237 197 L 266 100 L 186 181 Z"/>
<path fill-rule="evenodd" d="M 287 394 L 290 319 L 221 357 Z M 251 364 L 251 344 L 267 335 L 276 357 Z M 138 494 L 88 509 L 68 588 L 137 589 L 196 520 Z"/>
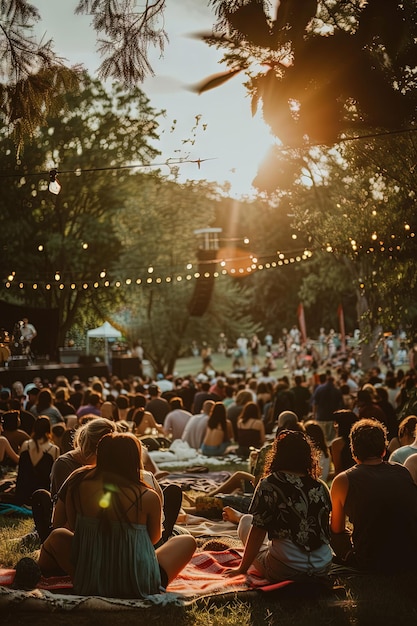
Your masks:
<path fill-rule="evenodd" d="M 407 326 L 410 334 L 416 329 L 415 156 L 412 133 L 338 151 L 314 149 L 304 155 L 298 180 L 284 187 L 281 179 L 277 192 L 287 198 L 312 248 L 323 252 L 300 296 L 324 308 L 329 298 L 345 304 L 355 297 L 368 338 L 381 326 Z"/>

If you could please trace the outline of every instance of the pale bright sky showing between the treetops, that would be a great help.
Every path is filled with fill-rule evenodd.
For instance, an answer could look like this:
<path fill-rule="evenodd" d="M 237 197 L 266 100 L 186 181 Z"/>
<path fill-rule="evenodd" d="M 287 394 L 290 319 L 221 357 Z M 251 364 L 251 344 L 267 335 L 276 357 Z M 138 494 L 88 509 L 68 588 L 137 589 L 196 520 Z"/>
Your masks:
<path fill-rule="evenodd" d="M 70 64 L 82 63 L 91 73 L 100 64 L 95 52 L 91 18 L 74 15 L 77 0 L 32 0 L 41 14 L 37 31 L 53 39 L 56 53 Z M 53 6 L 53 10 L 51 10 Z M 210 31 L 215 21 L 207 0 L 167 0 L 165 29 L 169 42 L 163 56 L 151 48 L 154 77 L 140 86 L 156 110 L 166 110 L 161 121 L 162 152 L 166 159 L 207 159 L 200 169 L 196 163 L 180 166 L 180 180 L 206 179 L 231 184 L 232 195 L 252 195 L 251 182 L 268 148 L 274 143 L 260 113 L 251 116 L 250 98 L 243 87 L 244 75 L 201 95 L 187 86 L 227 69 L 221 53 L 209 48 L 192 34 Z M 195 137 L 196 116 L 201 116 Z M 171 132 L 173 120 L 175 130 Z M 194 138 L 194 145 L 183 143 Z M 161 168 L 168 174 L 168 168 Z"/>

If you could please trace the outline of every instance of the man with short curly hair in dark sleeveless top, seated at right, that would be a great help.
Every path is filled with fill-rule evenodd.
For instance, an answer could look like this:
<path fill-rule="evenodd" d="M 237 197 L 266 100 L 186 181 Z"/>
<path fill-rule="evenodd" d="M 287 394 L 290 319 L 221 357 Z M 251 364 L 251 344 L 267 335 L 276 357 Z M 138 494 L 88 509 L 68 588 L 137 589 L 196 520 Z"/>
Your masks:
<path fill-rule="evenodd" d="M 384 461 L 387 429 L 378 420 L 356 422 L 350 446 L 356 465 L 338 474 L 331 486 L 332 546 L 337 557 L 368 572 L 414 572 L 417 485 L 405 467 Z"/>

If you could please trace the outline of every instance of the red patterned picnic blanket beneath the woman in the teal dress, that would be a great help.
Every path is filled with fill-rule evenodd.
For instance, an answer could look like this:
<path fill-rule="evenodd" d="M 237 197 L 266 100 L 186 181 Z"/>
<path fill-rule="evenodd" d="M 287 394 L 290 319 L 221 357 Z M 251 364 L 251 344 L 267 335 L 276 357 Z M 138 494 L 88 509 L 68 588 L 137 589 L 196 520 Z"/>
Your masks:
<path fill-rule="evenodd" d="M 158 594 L 159 605 L 175 604 L 185 606 L 200 598 L 224 594 L 248 592 L 250 590 L 273 591 L 292 583 L 284 581 L 271 584 L 260 578 L 250 569 L 248 575 L 227 578 L 223 572 L 227 567 L 236 567 L 240 563 L 243 549 L 228 549 L 222 552 L 196 552 L 190 563 L 172 581 L 167 593 Z M 149 608 L 151 600 L 120 598 L 101 598 L 77 596 L 71 593 L 69 577 L 42 578 L 33 591 L 11 589 L 15 571 L 0 569 L 0 611 L 13 606 L 14 610 L 64 611 L 80 610 L 120 610 Z"/>

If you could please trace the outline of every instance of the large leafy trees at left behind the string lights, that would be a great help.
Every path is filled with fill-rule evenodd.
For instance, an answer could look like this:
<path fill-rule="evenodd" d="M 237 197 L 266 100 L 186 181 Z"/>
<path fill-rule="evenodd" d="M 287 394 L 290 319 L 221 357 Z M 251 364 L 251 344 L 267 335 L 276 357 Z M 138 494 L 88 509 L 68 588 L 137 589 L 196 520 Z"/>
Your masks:
<path fill-rule="evenodd" d="M 143 93 L 117 86 L 108 93 L 84 76 L 66 100 L 19 160 L 10 139 L 2 139 L 8 184 L 0 198 L 0 251 L 3 279 L 13 275 L 9 300 L 57 308 L 58 345 L 79 343 L 83 329 L 107 318 L 129 342 L 141 339 L 154 369 L 165 373 L 196 338 L 216 344 L 221 332 L 232 342 L 256 332 L 251 293 L 227 278 L 215 281 L 205 316 L 190 316 L 194 231 L 219 223 L 230 232 L 231 201 L 205 182 L 180 185 L 159 173 L 129 171 L 126 163 L 146 164 L 157 154 L 151 141 L 158 113 Z M 47 186 L 52 165 L 62 185 L 58 196 Z M 246 209 L 242 203 L 242 238 L 256 219 Z"/>

